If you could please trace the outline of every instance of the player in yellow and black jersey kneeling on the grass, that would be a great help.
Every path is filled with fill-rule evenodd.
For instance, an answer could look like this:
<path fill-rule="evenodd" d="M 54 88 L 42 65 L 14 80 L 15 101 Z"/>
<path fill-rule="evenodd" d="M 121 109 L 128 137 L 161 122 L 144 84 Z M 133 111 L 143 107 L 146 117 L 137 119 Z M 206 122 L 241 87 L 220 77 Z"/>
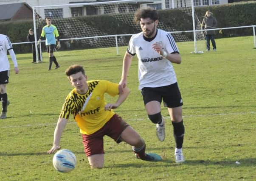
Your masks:
<path fill-rule="evenodd" d="M 118 84 L 105 80 L 87 81 L 84 68 L 72 65 L 66 75 L 74 89 L 66 97 L 54 131 L 53 147 L 48 153 L 60 149 L 60 138 L 73 114 L 82 134 L 84 152 L 91 168 L 102 168 L 104 164 L 103 136 L 110 136 L 115 142 L 127 142 L 132 146 L 136 158 L 159 161 L 156 153 L 145 153 L 146 144 L 141 136 L 124 120 L 114 113 L 129 95 L 129 88 L 120 93 Z M 104 94 L 118 95 L 115 103 L 106 103 Z"/>

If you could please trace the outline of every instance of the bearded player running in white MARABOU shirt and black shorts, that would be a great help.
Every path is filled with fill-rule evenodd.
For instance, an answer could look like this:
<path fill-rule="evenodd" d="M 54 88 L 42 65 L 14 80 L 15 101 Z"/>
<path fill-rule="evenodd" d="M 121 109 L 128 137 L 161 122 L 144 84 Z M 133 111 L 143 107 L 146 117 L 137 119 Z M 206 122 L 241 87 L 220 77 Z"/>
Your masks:
<path fill-rule="evenodd" d="M 138 57 L 139 89 L 149 119 L 156 124 L 158 139 L 165 139 L 164 119 L 161 115 L 161 102 L 167 106 L 176 142 L 175 162 L 184 162 L 182 152 L 185 128 L 182 119 L 183 101 L 177 85 L 172 63 L 180 64 L 181 57 L 176 43 L 169 33 L 157 28 L 158 12 L 152 8 L 139 9 L 135 21 L 140 23 L 142 32 L 133 35 L 124 55 L 120 91 L 127 85 L 132 57 Z"/>

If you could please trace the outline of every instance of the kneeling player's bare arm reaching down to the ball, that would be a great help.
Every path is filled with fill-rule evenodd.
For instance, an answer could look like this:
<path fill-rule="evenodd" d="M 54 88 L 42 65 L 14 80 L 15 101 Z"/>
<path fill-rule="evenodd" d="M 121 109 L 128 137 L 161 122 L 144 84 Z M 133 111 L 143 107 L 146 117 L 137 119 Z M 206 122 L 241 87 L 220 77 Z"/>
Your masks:
<path fill-rule="evenodd" d="M 56 125 L 54 136 L 53 136 L 53 147 L 48 150 L 48 154 L 53 153 L 56 150 L 60 149 L 59 142 L 62 135 L 62 132 L 68 123 L 68 120 L 66 118 L 59 117 L 58 123 Z"/>

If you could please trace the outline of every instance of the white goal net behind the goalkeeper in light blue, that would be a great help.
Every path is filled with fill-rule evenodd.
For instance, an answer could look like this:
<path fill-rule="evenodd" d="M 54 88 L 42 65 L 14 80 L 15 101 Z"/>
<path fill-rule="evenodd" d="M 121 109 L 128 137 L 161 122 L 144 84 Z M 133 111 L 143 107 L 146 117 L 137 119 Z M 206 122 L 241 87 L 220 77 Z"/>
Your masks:
<path fill-rule="evenodd" d="M 154 1 L 154 0 L 153 0 Z M 39 36 L 43 26 L 46 25 L 45 18 L 51 17 L 52 24 L 59 31 L 62 50 L 79 50 L 88 48 L 103 48 L 103 47 L 120 47 L 127 46 L 129 38 L 134 33 L 139 33 L 141 28 L 134 22 L 134 12 L 138 8 L 152 6 L 153 1 L 145 0 L 120 0 L 95 3 L 70 3 L 64 5 L 52 6 L 35 6 L 34 11 L 34 29 Z M 191 7 L 180 8 L 180 11 L 191 16 Z M 101 18 L 96 18 L 101 16 Z M 104 19 L 105 18 L 105 19 Z M 192 18 L 192 17 L 191 17 Z M 197 22 L 199 22 L 198 18 Z M 105 25 L 104 25 L 105 23 Z M 116 26 L 115 32 L 110 32 L 106 28 L 106 23 L 109 26 Z M 125 30 L 119 30 L 118 26 L 125 25 Z M 200 23 L 197 23 L 199 29 Z M 193 41 L 188 32 L 177 31 L 175 27 L 166 25 L 165 22 L 159 22 L 158 28 L 172 32 L 172 36 L 176 42 Z M 191 27 L 192 29 L 193 27 Z M 113 28 L 111 28 L 113 30 Z M 128 32 L 127 32 L 127 30 Z M 36 33 L 35 33 L 36 34 Z M 196 41 L 203 40 L 202 32 L 196 32 Z M 39 37 L 37 37 L 38 39 Z M 44 46 L 42 46 L 44 47 Z M 37 49 L 36 49 L 37 50 Z M 44 50 L 44 48 L 42 48 Z M 118 50 L 118 49 L 117 49 Z M 191 51 L 193 47 L 191 47 Z M 197 49 L 200 50 L 200 49 Z M 203 51 L 203 49 L 202 49 Z M 101 51 L 104 53 L 104 51 Z M 90 55 L 86 55 L 87 57 Z"/>

